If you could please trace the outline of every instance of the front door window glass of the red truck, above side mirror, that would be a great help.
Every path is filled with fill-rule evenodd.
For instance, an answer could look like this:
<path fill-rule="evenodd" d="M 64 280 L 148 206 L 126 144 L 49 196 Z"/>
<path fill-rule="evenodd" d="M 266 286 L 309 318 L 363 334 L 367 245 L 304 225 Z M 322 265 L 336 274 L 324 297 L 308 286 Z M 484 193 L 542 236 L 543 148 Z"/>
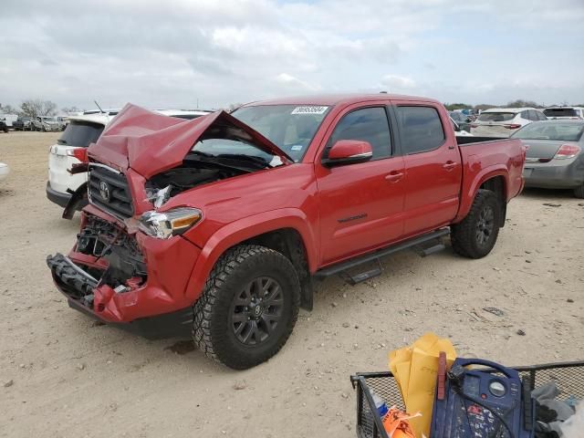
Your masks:
<path fill-rule="evenodd" d="M 384 108 L 363 108 L 345 115 L 335 127 L 327 144 L 327 151 L 339 140 L 369 141 L 373 160 L 391 155 L 390 125 Z"/>

